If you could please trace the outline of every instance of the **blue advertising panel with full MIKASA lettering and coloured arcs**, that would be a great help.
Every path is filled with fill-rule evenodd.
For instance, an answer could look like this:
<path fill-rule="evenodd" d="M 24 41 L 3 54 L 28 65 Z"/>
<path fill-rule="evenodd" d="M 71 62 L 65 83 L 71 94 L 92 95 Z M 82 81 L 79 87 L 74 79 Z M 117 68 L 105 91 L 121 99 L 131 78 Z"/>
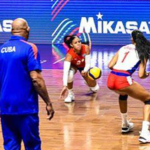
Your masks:
<path fill-rule="evenodd" d="M 62 2 L 61 5 L 64 3 Z M 76 28 L 80 28 L 82 17 L 85 17 L 87 20 L 91 17 L 94 20 L 94 26 L 96 32 L 98 32 L 98 22 L 102 24 L 105 22 L 113 21 L 114 23 L 111 26 L 111 30 L 115 31 L 116 28 L 122 31 L 117 33 L 112 33 L 108 30 L 108 33 L 104 33 L 105 25 L 102 26 L 101 33 L 93 33 L 90 31 L 90 36 L 92 43 L 96 45 L 122 45 L 130 42 L 130 33 L 127 33 L 127 22 L 131 24 L 134 21 L 134 24 L 129 28 L 130 31 L 133 28 L 141 29 L 145 33 L 147 38 L 150 38 L 150 2 L 149 1 L 99 1 L 99 0 L 82 0 L 82 1 L 68 1 L 68 3 L 63 7 L 60 13 L 57 14 L 57 6 L 59 4 L 53 4 L 51 14 L 52 21 L 52 30 L 51 34 L 54 34 L 54 31 L 58 28 L 51 40 L 53 44 L 59 44 L 63 42 L 63 37 L 66 34 L 71 34 Z M 55 10 L 56 8 L 56 10 Z M 59 8 L 59 7 L 58 7 Z M 102 18 L 98 19 L 98 14 L 103 15 Z M 57 14 L 57 16 L 55 16 Z M 67 19 L 65 21 L 65 19 Z M 63 22 L 64 21 L 64 22 Z M 132 22 L 131 22 L 132 21 Z M 63 23 L 62 23 L 63 22 Z M 122 26 L 117 26 L 118 22 L 121 22 Z M 62 23 L 62 24 L 61 24 Z M 87 26 L 90 26 L 90 23 L 87 23 Z M 74 26 L 73 26 L 74 25 Z M 130 25 L 130 26 L 131 26 Z M 86 26 L 86 27 L 87 27 Z M 70 29 L 69 29 L 70 28 Z M 61 31 L 62 30 L 62 31 Z M 60 32 L 61 31 L 61 32 Z M 67 31 L 67 33 L 66 33 Z M 125 31 L 125 32 L 123 32 Z M 59 33 L 60 32 L 60 33 Z M 79 30 L 74 32 L 77 34 Z M 57 34 L 59 35 L 57 37 Z M 83 40 L 85 40 L 83 34 L 80 35 Z M 86 36 L 86 34 L 85 34 Z M 57 38 L 56 38 L 57 37 Z"/>

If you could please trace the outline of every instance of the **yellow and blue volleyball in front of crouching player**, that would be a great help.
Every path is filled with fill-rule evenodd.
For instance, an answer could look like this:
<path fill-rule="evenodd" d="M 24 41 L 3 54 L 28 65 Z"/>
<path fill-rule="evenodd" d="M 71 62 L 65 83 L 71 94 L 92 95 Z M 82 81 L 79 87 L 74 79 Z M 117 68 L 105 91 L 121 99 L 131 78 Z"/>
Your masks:
<path fill-rule="evenodd" d="M 88 71 L 88 77 L 91 80 L 97 80 L 97 79 L 99 79 L 101 77 L 101 74 L 102 74 L 102 71 L 98 67 L 92 67 Z"/>

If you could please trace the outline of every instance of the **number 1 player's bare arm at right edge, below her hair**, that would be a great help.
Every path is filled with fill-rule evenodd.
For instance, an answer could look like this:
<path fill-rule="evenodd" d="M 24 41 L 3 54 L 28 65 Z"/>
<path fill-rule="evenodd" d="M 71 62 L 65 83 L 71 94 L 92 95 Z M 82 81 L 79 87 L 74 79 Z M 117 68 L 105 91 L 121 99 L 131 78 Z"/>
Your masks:
<path fill-rule="evenodd" d="M 149 73 L 146 72 L 146 64 L 147 64 L 146 60 L 144 60 L 144 62 L 140 63 L 140 66 L 139 66 L 139 77 L 141 79 L 147 78 L 149 76 Z"/>

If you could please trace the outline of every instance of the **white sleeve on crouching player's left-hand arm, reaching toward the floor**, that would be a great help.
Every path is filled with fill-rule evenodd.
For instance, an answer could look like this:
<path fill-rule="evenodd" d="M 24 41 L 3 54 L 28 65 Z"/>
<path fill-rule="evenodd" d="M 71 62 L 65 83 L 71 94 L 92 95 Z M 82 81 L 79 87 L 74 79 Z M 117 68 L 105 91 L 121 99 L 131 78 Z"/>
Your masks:
<path fill-rule="evenodd" d="M 68 74 L 69 74 L 70 66 L 71 66 L 71 62 L 64 61 L 64 73 L 63 73 L 63 85 L 64 86 L 67 86 L 68 84 Z"/>

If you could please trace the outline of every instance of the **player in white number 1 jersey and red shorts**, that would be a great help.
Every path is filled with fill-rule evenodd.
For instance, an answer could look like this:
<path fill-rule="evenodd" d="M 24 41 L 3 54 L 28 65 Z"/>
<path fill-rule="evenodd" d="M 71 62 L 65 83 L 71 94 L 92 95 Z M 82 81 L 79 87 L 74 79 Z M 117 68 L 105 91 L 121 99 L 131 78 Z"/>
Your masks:
<path fill-rule="evenodd" d="M 109 63 L 112 70 L 108 76 L 107 86 L 119 94 L 119 106 L 122 116 L 122 133 L 132 130 L 133 123 L 127 119 L 128 95 L 145 103 L 144 118 L 139 141 L 150 142 L 150 94 L 140 84 L 134 82 L 131 75 L 139 67 L 139 77 L 146 78 L 146 63 L 150 58 L 150 42 L 142 32 L 134 30 L 131 34 L 132 44 L 123 46 Z"/>

